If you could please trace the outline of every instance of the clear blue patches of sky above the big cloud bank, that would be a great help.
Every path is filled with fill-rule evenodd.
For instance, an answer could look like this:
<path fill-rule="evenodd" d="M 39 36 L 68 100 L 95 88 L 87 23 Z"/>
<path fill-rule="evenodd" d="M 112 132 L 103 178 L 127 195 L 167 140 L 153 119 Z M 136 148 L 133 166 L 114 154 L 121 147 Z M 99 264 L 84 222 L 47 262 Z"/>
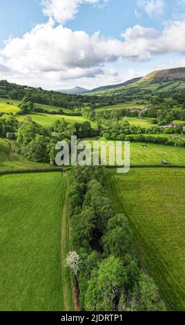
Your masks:
<path fill-rule="evenodd" d="M 39 0 L 0 0 L 1 46 L 3 40 L 8 39 L 10 35 L 21 37 L 34 24 L 48 20 L 41 11 L 40 3 Z M 164 22 L 173 19 L 174 15 L 177 18 L 182 14 L 185 15 L 185 1 L 166 0 L 164 3 L 166 3 L 164 15 L 159 17 L 148 17 L 143 8 L 139 7 L 137 0 L 109 0 L 100 8 L 86 3 L 81 6 L 76 19 L 68 21 L 66 26 L 72 30 L 85 30 L 88 34 L 100 30 L 103 35 L 113 37 L 120 37 L 122 30 L 135 24 L 162 30 Z M 140 13 L 140 17 L 137 17 L 135 10 Z"/>

